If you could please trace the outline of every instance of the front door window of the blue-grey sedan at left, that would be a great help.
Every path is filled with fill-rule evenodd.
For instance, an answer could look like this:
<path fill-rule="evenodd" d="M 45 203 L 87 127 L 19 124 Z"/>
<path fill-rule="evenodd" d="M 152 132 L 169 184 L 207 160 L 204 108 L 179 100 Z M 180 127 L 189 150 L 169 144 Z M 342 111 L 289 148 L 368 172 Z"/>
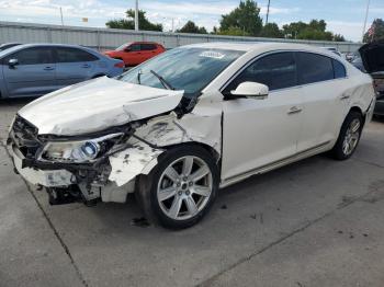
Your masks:
<path fill-rule="evenodd" d="M 48 47 L 35 47 L 19 50 L 12 55 L 9 55 L 5 62 L 8 62 L 10 59 L 18 59 L 19 65 L 44 65 L 54 62 L 52 49 Z"/>

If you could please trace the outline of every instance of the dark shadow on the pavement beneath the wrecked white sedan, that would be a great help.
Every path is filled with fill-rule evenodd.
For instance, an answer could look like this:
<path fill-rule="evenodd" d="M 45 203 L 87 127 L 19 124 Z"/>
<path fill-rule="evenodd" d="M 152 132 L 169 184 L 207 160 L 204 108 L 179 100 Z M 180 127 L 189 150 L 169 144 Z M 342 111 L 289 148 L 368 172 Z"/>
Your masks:
<path fill-rule="evenodd" d="M 271 195 L 271 203 L 279 208 L 281 203 L 273 203 L 273 198 L 278 198 L 276 194 L 281 192 L 281 187 L 276 187 L 278 182 L 287 182 L 287 184 L 295 181 L 295 176 L 306 173 L 306 170 L 316 169 L 316 165 L 332 165 L 335 161 L 324 154 L 318 154 L 308 159 L 304 159 L 280 169 L 270 171 L 264 174 L 252 175 L 239 183 L 235 183 L 228 187 L 221 188 L 215 204 L 206 218 L 200 225 L 212 225 L 210 221 L 215 221 L 217 213 L 225 213 L 225 209 L 231 209 L 234 205 L 246 206 L 251 202 L 266 200 L 266 197 Z M 273 195 L 273 193 L 276 193 Z M 258 199 L 259 198 L 259 199 Z M 236 203 L 234 203 L 236 200 Z M 126 204 L 115 203 L 100 203 L 89 210 L 92 213 L 92 217 L 98 220 L 104 221 L 102 226 L 115 226 L 115 232 L 123 232 L 120 228 L 127 227 L 127 223 L 132 227 L 151 227 L 159 230 L 165 230 L 161 227 L 151 226 L 145 218 L 140 210 L 134 194 L 129 194 Z M 229 211 L 229 213 L 233 213 Z M 225 216 L 224 216 L 225 217 Z M 222 217 L 223 220 L 223 217 Z M 190 228 L 193 230 L 200 228 L 199 225 Z M 114 228 L 113 228 L 114 229 Z M 156 231 L 158 232 L 158 231 Z M 161 232 L 161 231 L 160 231 Z M 182 231 L 180 231 L 182 232 Z M 124 233 L 124 232 L 123 232 Z M 129 233 L 129 232 L 128 232 Z"/>

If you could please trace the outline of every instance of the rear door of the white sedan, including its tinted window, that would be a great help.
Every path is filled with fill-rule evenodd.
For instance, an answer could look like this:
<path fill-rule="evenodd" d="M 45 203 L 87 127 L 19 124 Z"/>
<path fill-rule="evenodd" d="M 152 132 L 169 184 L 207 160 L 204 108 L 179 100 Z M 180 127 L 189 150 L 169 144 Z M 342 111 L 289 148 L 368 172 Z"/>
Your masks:
<path fill-rule="evenodd" d="M 297 78 L 303 95 L 303 127 L 297 151 L 332 141 L 349 107 L 343 64 L 324 55 L 297 51 Z"/>

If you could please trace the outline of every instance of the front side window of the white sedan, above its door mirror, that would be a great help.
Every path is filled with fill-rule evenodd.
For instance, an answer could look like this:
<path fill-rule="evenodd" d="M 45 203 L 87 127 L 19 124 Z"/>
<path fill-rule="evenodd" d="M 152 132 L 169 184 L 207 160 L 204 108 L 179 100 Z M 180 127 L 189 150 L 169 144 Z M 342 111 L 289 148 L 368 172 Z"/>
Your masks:
<path fill-rule="evenodd" d="M 270 91 L 296 85 L 294 54 L 291 51 L 275 53 L 256 60 L 236 77 L 224 93 L 229 93 L 240 83 L 248 81 L 263 83 Z"/>

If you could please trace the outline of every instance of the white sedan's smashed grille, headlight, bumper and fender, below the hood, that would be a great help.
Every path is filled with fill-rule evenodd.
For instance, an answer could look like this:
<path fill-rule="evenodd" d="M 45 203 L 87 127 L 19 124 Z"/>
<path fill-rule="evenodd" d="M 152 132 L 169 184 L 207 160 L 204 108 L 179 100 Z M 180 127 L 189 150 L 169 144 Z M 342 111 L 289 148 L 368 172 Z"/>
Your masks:
<path fill-rule="evenodd" d="M 221 158 L 222 110 L 205 101 L 189 112 L 171 111 L 81 136 L 39 135 L 18 115 L 8 147 L 15 172 L 46 187 L 52 204 L 74 200 L 125 203 L 138 175 L 147 175 L 167 149 L 185 142 L 212 147 Z"/>

